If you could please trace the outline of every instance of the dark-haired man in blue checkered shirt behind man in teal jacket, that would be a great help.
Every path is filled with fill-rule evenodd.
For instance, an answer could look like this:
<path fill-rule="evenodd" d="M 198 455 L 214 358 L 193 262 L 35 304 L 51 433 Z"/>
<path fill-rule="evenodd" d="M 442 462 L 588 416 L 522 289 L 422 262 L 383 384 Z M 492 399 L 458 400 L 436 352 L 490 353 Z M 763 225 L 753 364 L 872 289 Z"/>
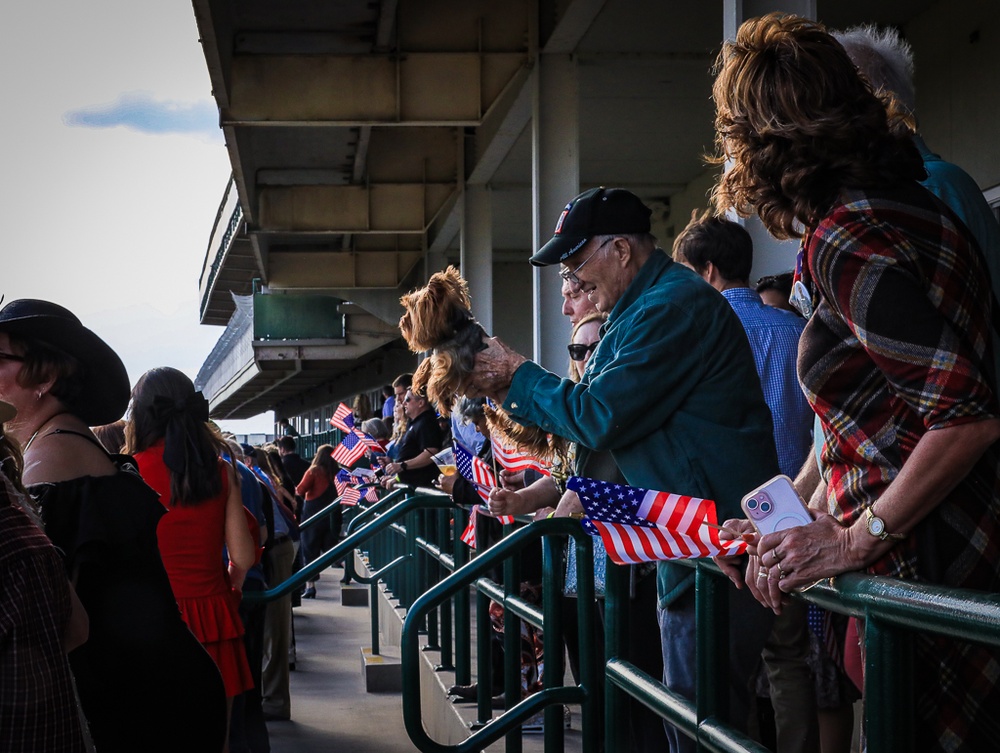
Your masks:
<path fill-rule="evenodd" d="M 674 260 L 690 267 L 733 307 L 753 351 L 764 401 L 771 409 L 781 472 L 795 478 L 812 449 L 813 411 L 796 372 L 805 320 L 766 305 L 750 288 L 753 241 L 741 226 L 720 217 L 692 219 L 674 241 Z M 819 749 L 815 693 L 806 657 L 806 606 L 782 610 L 762 657 L 771 689 L 778 750 Z"/>

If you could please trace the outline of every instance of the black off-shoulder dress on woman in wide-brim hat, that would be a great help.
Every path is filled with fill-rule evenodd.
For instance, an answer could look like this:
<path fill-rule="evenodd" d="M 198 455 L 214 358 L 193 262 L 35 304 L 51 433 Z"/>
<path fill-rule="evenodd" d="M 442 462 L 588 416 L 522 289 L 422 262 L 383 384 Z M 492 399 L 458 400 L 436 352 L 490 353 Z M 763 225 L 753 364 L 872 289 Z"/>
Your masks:
<path fill-rule="evenodd" d="M 90 619 L 70 665 L 94 743 L 101 753 L 218 753 L 222 677 L 181 619 L 160 560 L 166 512 L 134 465 L 115 459 L 114 475 L 28 489 Z"/>

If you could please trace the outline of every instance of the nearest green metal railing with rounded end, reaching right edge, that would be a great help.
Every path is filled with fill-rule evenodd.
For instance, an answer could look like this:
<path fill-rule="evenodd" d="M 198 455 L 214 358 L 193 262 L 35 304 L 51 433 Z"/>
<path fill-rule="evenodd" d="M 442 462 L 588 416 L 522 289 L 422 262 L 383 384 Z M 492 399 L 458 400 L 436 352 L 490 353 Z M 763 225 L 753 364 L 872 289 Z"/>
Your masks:
<path fill-rule="evenodd" d="M 484 600 L 500 602 L 508 615 L 515 619 L 525 619 L 542 629 L 546 643 L 560 645 L 561 627 L 558 616 L 553 614 L 552 599 L 557 598 L 561 588 L 561 568 L 551 547 L 546 547 L 544 563 L 545 607 L 541 612 L 512 593 L 512 585 L 517 582 L 517 555 L 529 542 L 553 533 L 573 536 L 580 545 L 582 529 L 575 521 L 546 520 L 533 523 L 505 538 L 496 546 L 480 553 L 464 567 L 458 568 L 441 583 L 420 596 L 410 608 L 403 628 L 403 715 L 407 732 L 414 744 L 426 753 L 468 753 L 507 736 L 507 750 L 519 753 L 520 736 L 515 734 L 518 725 L 541 709 L 546 714 L 546 751 L 561 750 L 560 703 L 590 703 L 587 682 L 581 680 L 577 688 L 556 688 L 553 683 L 562 677 L 561 652 L 546 656 L 545 688 L 521 701 L 484 727 L 474 732 L 458 745 L 443 745 L 431 740 L 423 730 L 419 701 L 419 677 L 415 657 L 418 652 L 420 620 L 428 610 L 439 607 L 470 586 L 475 586 Z M 587 550 L 589 552 L 589 542 Z M 498 562 L 504 561 L 505 586 L 501 590 L 496 584 L 482 578 L 482 574 Z M 586 563 L 592 568 L 591 555 L 584 555 L 578 548 L 578 564 Z M 709 561 L 684 562 L 696 570 L 695 602 L 696 619 L 699 625 L 727 626 L 724 630 L 697 630 L 696 656 L 698 677 L 718 678 L 728 675 L 728 580 L 722 577 L 718 568 Z M 608 753 L 628 750 L 628 699 L 635 698 L 649 707 L 684 734 L 695 739 L 702 750 L 766 751 L 767 748 L 743 733 L 727 725 L 725 717 L 728 703 L 726 683 L 699 682 L 694 699 L 685 698 L 670 691 L 661 681 L 638 669 L 621 658 L 625 651 L 623 637 L 627 632 L 630 618 L 628 600 L 628 570 L 610 562 L 607 571 L 605 598 L 605 708 L 604 732 L 605 749 Z M 578 573 L 581 584 L 579 604 L 592 603 L 591 593 L 583 593 L 583 586 L 591 575 Z M 830 584 L 821 584 L 799 594 L 797 598 L 818 604 L 830 611 L 864 618 L 865 630 L 865 698 L 866 732 L 868 751 L 908 750 L 913 747 L 913 683 L 912 683 L 912 634 L 913 631 L 930 632 L 955 640 L 986 643 L 1000 646 L 1000 595 L 972 591 L 959 591 L 926 584 L 880 578 L 863 574 L 846 574 L 834 579 Z M 652 615 L 649 616 L 652 619 Z M 505 617 L 505 633 L 512 645 L 506 646 L 507 660 L 517 661 L 517 637 L 519 625 L 508 623 Z M 481 617 L 482 620 L 482 617 Z M 589 624 L 581 615 L 580 625 Z M 481 630 L 480 634 L 485 631 Z M 581 640 L 585 640 L 581 636 Z M 511 650 L 513 648 L 513 650 Z M 479 649 L 480 720 L 486 707 L 483 705 L 484 688 L 489 684 L 489 667 L 484 657 L 488 646 Z M 555 657 L 554 654 L 560 654 Z M 594 668 L 588 667 L 590 653 L 581 644 L 581 672 L 592 677 Z M 516 670 L 515 670 L 516 671 Z M 505 668 L 508 698 L 512 686 L 511 668 Z M 576 700 L 566 700 L 576 699 Z M 585 711 L 584 724 L 591 715 Z M 560 734 L 555 730 L 559 729 Z M 549 735 L 552 733 L 550 739 Z M 583 734 L 585 750 L 593 744 L 593 735 Z"/>

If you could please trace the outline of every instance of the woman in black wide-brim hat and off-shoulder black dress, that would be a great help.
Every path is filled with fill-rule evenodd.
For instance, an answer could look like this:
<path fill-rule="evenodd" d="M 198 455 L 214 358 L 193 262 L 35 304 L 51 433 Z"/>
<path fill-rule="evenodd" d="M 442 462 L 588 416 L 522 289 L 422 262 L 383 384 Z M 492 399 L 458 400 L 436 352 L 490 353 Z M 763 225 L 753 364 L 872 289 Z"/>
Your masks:
<path fill-rule="evenodd" d="M 118 355 L 47 301 L 0 309 L 0 399 L 45 533 L 90 618 L 70 664 L 94 743 L 106 751 L 222 750 L 226 704 L 211 657 L 183 623 L 157 548 L 162 505 L 89 426 L 124 414 Z"/>

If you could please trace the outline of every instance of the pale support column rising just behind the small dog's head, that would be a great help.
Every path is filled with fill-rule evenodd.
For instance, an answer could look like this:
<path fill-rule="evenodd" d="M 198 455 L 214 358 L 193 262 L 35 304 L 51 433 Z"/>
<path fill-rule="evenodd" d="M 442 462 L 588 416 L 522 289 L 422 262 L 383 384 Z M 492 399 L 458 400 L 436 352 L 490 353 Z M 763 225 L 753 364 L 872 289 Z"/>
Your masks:
<path fill-rule="evenodd" d="M 462 213 L 462 276 L 469 283 L 472 313 L 493 334 L 493 209 L 490 189 L 465 187 Z"/>

